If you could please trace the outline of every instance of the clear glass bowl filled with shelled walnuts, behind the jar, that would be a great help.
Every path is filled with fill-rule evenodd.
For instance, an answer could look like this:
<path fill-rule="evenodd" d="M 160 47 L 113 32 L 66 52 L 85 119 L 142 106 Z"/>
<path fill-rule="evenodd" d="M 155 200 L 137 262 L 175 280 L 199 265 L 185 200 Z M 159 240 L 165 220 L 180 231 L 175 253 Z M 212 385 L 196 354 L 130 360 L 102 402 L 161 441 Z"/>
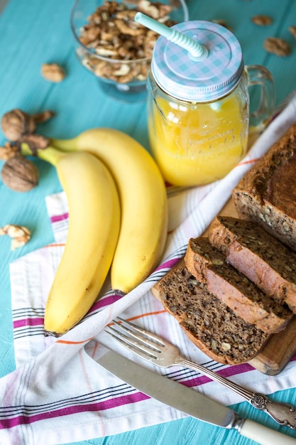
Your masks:
<path fill-rule="evenodd" d="M 137 11 L 166 26 L 188 20 L 185 0 L 76 0 L 71 11 L 75 52 L 107 95 L 146 99 L 147 72 L 158 34 L 133 20 Z"/>

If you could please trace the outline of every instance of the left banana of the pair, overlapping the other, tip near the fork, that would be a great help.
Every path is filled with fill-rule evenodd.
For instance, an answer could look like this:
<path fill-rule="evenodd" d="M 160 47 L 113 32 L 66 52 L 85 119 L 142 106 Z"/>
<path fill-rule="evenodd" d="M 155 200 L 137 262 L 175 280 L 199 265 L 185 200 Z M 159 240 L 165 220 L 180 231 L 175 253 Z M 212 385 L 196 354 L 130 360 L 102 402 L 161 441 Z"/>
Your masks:
<path fill-rule="evenodd" d="M 32 154 L 21 144 L 23 154 Z M 69 230 L 45 307 L 45 333 L 60 336 L 97 299 L 119 237 L 120 203 L 109 170 L 95 156 L 48 147 L 37 156 L 53 163 L 69 205 Z"/>

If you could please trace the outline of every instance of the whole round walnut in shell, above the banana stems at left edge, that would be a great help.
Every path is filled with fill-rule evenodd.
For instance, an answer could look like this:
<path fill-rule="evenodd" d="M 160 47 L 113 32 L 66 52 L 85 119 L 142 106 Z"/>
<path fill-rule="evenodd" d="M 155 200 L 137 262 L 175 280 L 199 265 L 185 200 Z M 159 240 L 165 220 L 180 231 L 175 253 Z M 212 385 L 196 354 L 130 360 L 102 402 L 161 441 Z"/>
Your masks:
<path fill-rule="evenodd" d="M 36 124 L 30 114 L 16 108 L 2 116 L 1 127 L 9 141 L 17 141 L 23 134 L 35 132 Z"/>

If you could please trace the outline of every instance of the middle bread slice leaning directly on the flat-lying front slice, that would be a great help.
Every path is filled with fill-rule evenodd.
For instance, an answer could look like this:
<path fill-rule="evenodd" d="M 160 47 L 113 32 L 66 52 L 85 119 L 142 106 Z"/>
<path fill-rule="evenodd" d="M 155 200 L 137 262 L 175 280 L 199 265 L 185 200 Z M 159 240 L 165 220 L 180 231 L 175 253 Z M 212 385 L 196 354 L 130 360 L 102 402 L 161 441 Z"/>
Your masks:
<path fill-rule="evenodd" d="M 209 291 L 248 323 L 266 333 L 283 331 L 292 312 L 267 296 L 241 272 L 226 262 L 226 257 L 206 237 L 190 239 L 185 254 L 187 269 Z"/>

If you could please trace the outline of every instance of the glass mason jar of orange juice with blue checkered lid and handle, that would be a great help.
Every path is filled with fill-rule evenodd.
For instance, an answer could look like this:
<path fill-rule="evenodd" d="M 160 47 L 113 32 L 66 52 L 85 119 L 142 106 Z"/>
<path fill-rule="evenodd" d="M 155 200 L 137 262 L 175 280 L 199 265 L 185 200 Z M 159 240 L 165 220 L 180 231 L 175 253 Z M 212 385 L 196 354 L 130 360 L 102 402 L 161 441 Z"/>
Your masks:
<path fill-rule="evenodd" d="M 148 77 L 150 148 L 165 181 L 199 186 L 226 176 L 246 155 L 249 131 L 261 131 L 273 113 L 268 70 L 245 67 L 241 46 L 226 28 L 205 21 L 174 28 L 207 48 L 202 60 L 160 37 Z M 250 85 L 259 85 L 250 114 Z"/>

